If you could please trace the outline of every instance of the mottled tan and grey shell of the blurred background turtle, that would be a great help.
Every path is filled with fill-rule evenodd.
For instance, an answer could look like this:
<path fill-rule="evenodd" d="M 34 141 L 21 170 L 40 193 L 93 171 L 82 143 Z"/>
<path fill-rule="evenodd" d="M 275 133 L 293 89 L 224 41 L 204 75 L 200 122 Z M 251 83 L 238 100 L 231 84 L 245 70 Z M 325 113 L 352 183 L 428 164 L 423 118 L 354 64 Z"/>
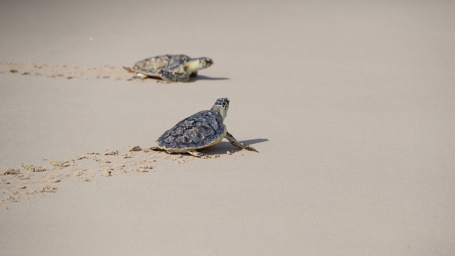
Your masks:
<path fill-rule="evenodd" d="M 155 76 L 163 72 L 175 72 L 182 64 L 190 61 L 191 58 L 186 55 L 160 55 L 154 56 L 142 61 L 137 61 L 133 70 L 146 75 Z"/>

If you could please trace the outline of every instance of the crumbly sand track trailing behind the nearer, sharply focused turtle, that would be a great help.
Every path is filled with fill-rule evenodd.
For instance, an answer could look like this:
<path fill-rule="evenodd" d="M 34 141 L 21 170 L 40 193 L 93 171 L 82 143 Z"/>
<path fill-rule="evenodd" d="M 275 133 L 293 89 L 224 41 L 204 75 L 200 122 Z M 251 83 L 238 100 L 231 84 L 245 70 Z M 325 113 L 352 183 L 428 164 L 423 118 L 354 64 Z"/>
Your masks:
<path fill-rule="evenodd" d="M 210 158 L 216 159 L 219 156 L 216 154 Z M 122 151 L 85 151 L 67 160 L 41 159 L 38 163 L 20 164 L 0 173 L 0 206 L 11 206 L 36 195 L 45 196 L 66 190 L 64 186 L 67 182 L 96 184 L 113 176 L 150 175 L 155 171 L 166 171 L 160 165 L 184 165 L 195 159 L 199 158 L 133 146 Z"/>

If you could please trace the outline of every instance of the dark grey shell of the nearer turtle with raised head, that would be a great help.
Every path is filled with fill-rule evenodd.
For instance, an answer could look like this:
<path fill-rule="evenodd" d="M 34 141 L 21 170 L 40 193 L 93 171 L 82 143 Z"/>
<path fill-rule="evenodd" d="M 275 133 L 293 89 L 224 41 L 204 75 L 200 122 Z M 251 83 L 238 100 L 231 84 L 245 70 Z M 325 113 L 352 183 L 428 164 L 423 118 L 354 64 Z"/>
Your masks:
<path fill-rule="evenodd" d="M 164 149 L 204 148 L 224 135 L 221 115 L 202 110 L 178 122 L 157 139 Z"/>

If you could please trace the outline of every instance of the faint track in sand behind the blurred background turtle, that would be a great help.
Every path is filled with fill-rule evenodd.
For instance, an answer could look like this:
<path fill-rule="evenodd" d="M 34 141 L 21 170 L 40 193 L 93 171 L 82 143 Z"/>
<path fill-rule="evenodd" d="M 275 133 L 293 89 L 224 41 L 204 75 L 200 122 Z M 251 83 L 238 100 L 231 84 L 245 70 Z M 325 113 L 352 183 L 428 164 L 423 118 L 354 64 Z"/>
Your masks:
<path fill-rule="evenodd" d="M 0 62 L 0 74 L 44 76 L 47 78 L 64 78 L 80 80 L 110 79 L 112 81 L 130 81 L 133 73 L 127 72 L 122 67 L 104 65 L 104 67 L 76 67 L 70 65 L 36 65 L 34 63 Z M 137 82 L 167 81 L 157 78 L 135 79 Z"/>

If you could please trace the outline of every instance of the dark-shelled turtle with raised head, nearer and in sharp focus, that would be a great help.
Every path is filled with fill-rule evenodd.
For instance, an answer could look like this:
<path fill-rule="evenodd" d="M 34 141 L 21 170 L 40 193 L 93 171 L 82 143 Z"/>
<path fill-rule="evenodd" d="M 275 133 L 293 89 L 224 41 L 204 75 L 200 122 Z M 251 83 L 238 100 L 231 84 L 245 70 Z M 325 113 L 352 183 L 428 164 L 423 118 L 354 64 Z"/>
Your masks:
<path fill-rule="evenodd" d="M 153 150 L 166 150 L 168 153 L 189 153 L 193 156 L 208 156 L 197 152 L 197 149 L 211 147 L 222 141 L 223 138 L 238 148 L 251 151 L 258 150 L 245 145 L 227 132 L 223 124 L 226 118 L 229 100 L 219 98 L 210 110 L 202 110 L 178 122 L 157 139 L 158 147 Z"/>

